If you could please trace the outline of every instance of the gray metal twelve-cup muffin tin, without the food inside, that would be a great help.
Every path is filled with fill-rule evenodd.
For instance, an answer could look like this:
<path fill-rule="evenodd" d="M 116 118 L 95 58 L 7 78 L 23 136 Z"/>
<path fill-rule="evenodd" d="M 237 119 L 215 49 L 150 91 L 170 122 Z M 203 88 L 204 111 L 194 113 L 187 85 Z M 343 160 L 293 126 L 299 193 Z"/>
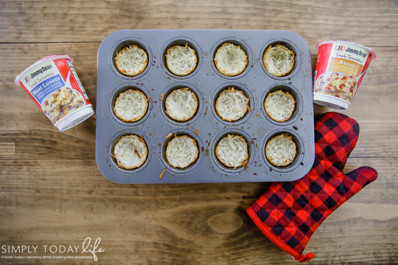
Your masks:
<path fill-rule="evenodd" d="M 226 77 L 214 66 L 213 58 L 224 42 L 239 45 L 247 54 L 248 65 L 240 75 Z M 186 43 L 195 49 L 198 64 L 186 77 L 173 75 L 166 65 L 167 50 Z M 131 44 L 148 55 L 146 70 L 136 76 L 121 74 L 114 63 L 116 52 Z M 262 57 L 270 45 L 283 44 L 295 53 L 295 66 L 284 77 L 270 75 Z M 192 119 L 179 122 L 165 113 L 165 99 L 176 88 L 191 88 L 199 106 Z M 223 121 L 215 111 L 218 94 L 225 88 L 242 90 L 249 98 L 252 111 L 235 122 Z M 113 113 L 120 92 L 138 89 L 151 96 L 146 115 L 137 122 L 124 122 Z M 289 91 L 296 100 L 293 116 L 286 122 L 275 122 L 264 111 L 269 92 Z M 159 100 L 161 93 L 163 99 Z M 196 135 L 196 131 L 199 133 Z M 314 124 L 312 104 L 311 53 L 298 34 L 273 30 L 224 29 L 132 29 L 109 34 L 101 43 L 97 61 L 97 133 L 96 161 L 100 172 L 117 183 L 205 183 L 290 181 L 303 177 L 314 161 Z M 185 169 L 173 168 L 167 162 L 168 142 L 189 135 L 198 144 L 197 160 Z M 169 133 L 173 135 L 165 138 Z M 271 165 L 265 157 L 268 139 L 289 133 L 297 146 L 295 161 L 286 167 Z M 123 135 L 143 136 L 148 158 L 139 168 L 119 168 L 113 157 L 114 145 Z M 248 171 L 228 168 L 215 156 L 215 147 L 227 134 L 242 135 L 248 144 Z M 162 178 L 162 171 L 166 169 Z"/>

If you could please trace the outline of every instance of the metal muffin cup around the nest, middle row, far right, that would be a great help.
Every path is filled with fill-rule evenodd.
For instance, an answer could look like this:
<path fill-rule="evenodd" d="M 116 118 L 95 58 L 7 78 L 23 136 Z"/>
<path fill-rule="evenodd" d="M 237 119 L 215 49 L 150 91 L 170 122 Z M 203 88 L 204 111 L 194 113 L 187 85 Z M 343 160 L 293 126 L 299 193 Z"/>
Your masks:
<path fill-rule="evenodd" d="M 291 94 L 296 101 L 295 110 L 293 111 L 292 116 L 288 120 L 283 121 L 283 122 L 279 122 L 279 121 L 275 121 L 275 120 L 271 119 L 271 117 L 268 116 L 267 112 L 265 111 L 265 106 L 264 106 L 265 99 L 267 98 L 268 94 L 278 91 L 278 90 L 282 90 L 284 92 L 289 92 L 289 94 Z M 289 84 L 285 84 L 285 83 L 274 84 L 274 85 L 270 86 L 269 88 L 265 89 L 264 93 L 261 96 L 260 104 L 261 104 L 261 106 L 260 106 L 261 112 L 263 113 L 264 117 L 269 122 L 271 122 L 275 125 L 278 125 L 278 126 L 287 126 L 287 125 L 294 123 L 300 117 L 301 111 L 302 111 L 302 98 L 301 98 L 300 92 L 298 92 L 298 90 L 295 87 L 293 87 Z"/>

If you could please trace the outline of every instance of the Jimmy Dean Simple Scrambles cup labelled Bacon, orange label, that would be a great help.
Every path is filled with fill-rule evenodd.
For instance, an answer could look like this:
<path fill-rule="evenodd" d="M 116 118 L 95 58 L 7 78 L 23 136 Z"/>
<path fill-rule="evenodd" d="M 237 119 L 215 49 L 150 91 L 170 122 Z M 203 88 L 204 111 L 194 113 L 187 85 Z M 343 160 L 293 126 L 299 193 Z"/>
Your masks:
<path fill-rule="evenodd" d="M 321 41 L 314 72 L 314 103 L 347 109 L 376 53 L 348 41 Z"/>

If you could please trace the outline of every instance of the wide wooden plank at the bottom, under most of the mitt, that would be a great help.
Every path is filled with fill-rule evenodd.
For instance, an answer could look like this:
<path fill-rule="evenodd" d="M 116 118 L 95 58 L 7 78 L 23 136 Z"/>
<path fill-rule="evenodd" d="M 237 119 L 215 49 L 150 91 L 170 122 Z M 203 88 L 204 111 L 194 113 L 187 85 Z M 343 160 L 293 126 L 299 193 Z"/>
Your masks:
<path fill-rule="evenodd" d="M 363 164 L 379 178 L 317 229 L 304 251 L 315 253 L 311 264 L 398 259 L 398 159 L 350 158 L 346 172 Z M 2 160 L 0 168 L 1 245 L 82 246 L 91 236 L 105 250 L 100 264 L 297 264 L 245 212 L 269 183 L 116 184 L 94 160 Z M 9 262 L 19 263 L 34 261 Z M 40 261 L 65 263 L 73 260 Z"/>

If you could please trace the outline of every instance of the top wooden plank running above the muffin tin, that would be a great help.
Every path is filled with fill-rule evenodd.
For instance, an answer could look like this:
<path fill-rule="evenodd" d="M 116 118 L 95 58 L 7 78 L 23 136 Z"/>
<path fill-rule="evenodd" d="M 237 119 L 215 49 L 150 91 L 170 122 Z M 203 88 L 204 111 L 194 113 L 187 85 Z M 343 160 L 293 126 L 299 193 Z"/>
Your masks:
<path fill-rule="evenodd" d="M 119 29 L 290 30 L 308 43 L 396 46 L 396 1 L 1 1 L 0 42 L 93 42 Z"/>

